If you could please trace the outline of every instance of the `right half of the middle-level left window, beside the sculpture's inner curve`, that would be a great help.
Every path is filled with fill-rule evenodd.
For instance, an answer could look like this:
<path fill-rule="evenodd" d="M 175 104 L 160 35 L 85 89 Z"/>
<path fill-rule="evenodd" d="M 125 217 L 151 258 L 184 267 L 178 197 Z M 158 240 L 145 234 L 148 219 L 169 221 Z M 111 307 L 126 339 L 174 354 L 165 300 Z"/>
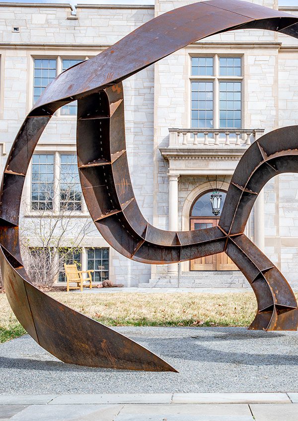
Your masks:
<path fill-rule="evenodd" d="M 60 210 L 80 211 L 82 193 L 76 155 L 61 155 L 60 159 Z"/>

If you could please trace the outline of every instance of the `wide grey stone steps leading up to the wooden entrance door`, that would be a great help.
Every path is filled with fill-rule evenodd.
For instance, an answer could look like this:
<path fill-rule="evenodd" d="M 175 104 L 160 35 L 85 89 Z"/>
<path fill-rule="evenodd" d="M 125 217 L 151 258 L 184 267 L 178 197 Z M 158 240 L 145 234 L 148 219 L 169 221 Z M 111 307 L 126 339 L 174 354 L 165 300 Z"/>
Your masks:
<path fill-rule="evenodd" d="M 176 288 L 177 277 L 150 279 L 140 283 L 140 288 Z M 182 272 L 179 278 L 180 288 L 249 288 L 250 285 L 240 271 L 201 271 Z"/>

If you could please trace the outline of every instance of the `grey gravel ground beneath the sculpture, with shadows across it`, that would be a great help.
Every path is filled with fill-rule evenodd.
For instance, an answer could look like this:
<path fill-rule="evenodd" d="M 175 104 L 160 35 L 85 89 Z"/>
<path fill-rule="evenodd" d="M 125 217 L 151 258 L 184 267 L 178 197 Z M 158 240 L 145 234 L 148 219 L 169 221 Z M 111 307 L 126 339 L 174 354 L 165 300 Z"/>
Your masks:
<path fill-rule="evenodd" d="M 0 394 L 298 391 L 298 332 L 116 330 L 163 357 L 179 373 L 64 364 L 26 335 L 0 345 Z"/>

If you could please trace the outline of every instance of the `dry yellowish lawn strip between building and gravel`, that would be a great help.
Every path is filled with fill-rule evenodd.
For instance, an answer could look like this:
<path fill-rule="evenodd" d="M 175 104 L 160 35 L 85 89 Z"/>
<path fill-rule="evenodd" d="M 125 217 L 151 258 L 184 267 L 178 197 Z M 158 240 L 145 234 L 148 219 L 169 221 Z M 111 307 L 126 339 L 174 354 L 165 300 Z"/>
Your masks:
<path fill-rule="evenodd" d="M 257 308 L 250 292 L 49 295 L 108 326 L 248 326 Z M 0 294 L 0 342 L 23 333 L 5 294 Z"/>

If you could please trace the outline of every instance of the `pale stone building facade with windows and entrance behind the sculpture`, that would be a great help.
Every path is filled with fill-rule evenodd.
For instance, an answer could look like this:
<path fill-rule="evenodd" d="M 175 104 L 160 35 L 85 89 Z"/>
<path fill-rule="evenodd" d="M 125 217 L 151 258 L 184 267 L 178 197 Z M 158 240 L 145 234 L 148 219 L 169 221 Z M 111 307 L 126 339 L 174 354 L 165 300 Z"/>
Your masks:
<path fill-rule="evenodd" d="M 86 4 L 73 11 L 54 2 L 0 3 L 1 171 L 22 120 L 53 75 L 99 54 L 154 16 L 191 2 Z M 278 0 L 252 2 L 278 8 Z M 298 15 L 298 7 L 283 10 Z M 220 189 L 224 200 L 249 144 L 264 132 L 297 124 L 298 40 L 261 30 L 216 35 L 127 79 L 124 88 L 130 171 L 144 216 L 161 229 L 204 228 L 218 219 L 210 213 L 209 195 Z M 52 118 L 26 175 L 20 227 L 31 247 L 39 246 L 35 233 L 40 218 L 59 218 L 61 179 L 64 168 L 73 168 L 75 129 L 73 104 Z M 51 209 L 43 208 L 48 206 L 45 185 L 58 191 Z M 292 285 L 298 283 L 297 200 L 298 176 L 275 177 L 260 194 L 246 227 Z M 89 216 L 83 200 L 68 210 L 63 218 L 71 229 L 62 246 L 71 248 L 72 231 L 84 227 Z M 83 270 L 95 269 L 95 280 L 109 277 L 147 287 L 247 286 L 224 256 L 150 266 L 116 253 L 90 227 L 78 258 Z"/>

